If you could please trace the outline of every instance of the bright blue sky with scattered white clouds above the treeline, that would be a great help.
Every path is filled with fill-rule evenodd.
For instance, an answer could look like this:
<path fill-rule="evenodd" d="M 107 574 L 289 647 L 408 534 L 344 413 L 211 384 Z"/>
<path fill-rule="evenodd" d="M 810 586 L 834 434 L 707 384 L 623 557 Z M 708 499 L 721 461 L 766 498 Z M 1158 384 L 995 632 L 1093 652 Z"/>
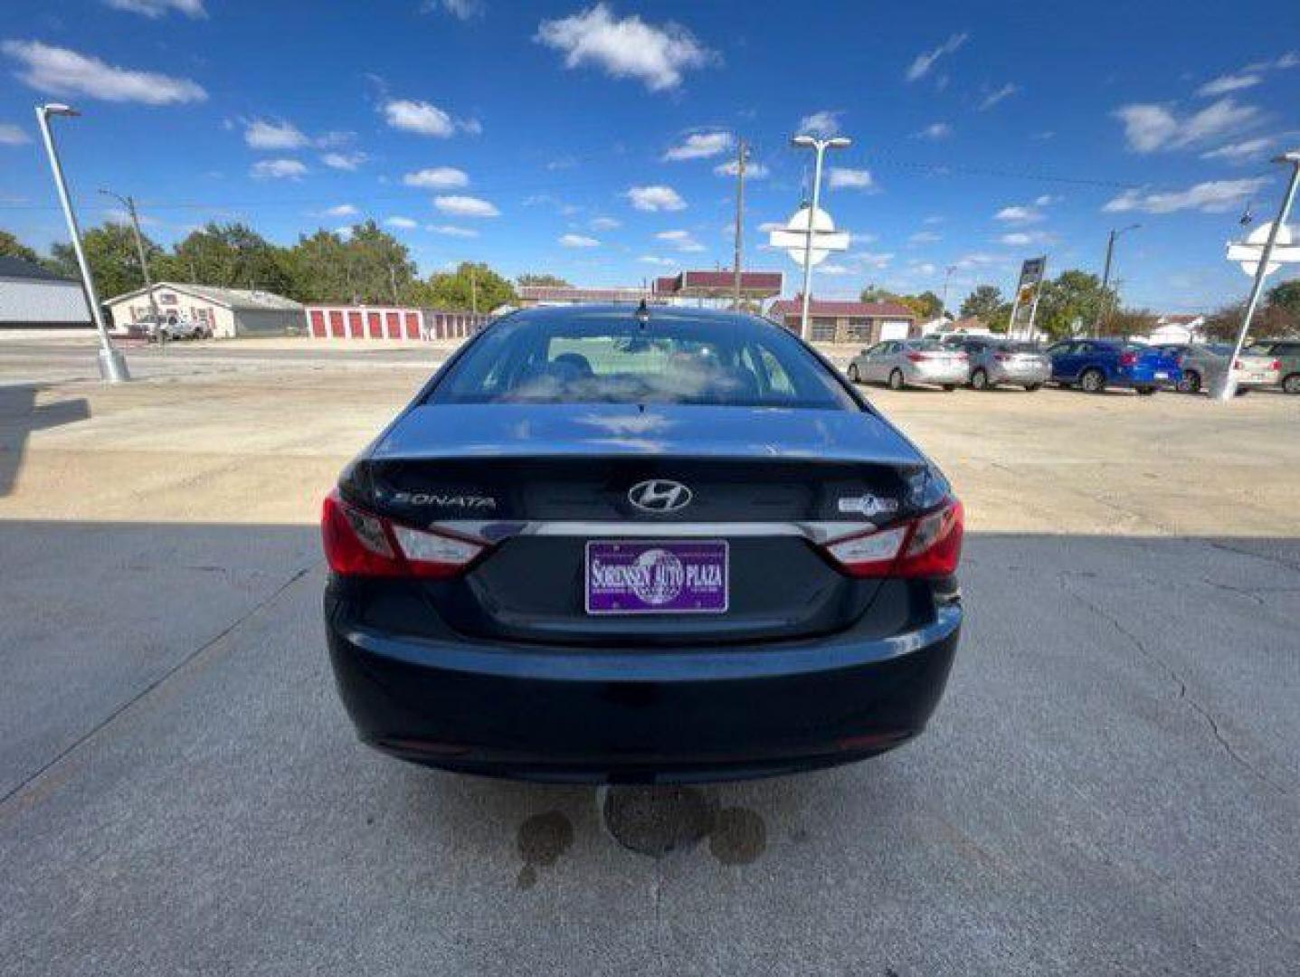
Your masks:
<path fill-rule="evenodd" d="M 807 57 L 811 52 L 811 58 Z M 1013 286 L 1023 257 L 1100 272 L 1128 223 L 1124 298 L 1240 298 L 1238 217 L 1275 209 L 1300 146 L 1300 4 L 8 0 L 0 227 L 64 236 L 32 105 L 57 122 L 83 222 L 133 194 L 169 243 L 240 220 L 291 243 L 373 217 L 422 273 L 637 283 L 731 262 L 738 135 L 746 266 L 798 205 L 803 126 L 854 140 L 824 207 L 853 234 L 818 295 L 868 282 Z"/>

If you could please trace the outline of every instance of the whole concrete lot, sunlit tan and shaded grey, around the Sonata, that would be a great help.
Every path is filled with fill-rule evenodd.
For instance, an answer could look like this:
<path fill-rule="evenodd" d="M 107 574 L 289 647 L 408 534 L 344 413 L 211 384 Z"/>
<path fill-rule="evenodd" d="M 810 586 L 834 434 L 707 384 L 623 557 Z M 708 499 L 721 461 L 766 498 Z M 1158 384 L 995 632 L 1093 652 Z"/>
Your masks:
<path fill-rule="evenodd" d="M 316 507 L 437 349 L 0 344 L 0 973 L 1280 974 L 1300 398 L 871 391 L 968 512 L 924 737 L 597 793 L 359 746 Z"/>

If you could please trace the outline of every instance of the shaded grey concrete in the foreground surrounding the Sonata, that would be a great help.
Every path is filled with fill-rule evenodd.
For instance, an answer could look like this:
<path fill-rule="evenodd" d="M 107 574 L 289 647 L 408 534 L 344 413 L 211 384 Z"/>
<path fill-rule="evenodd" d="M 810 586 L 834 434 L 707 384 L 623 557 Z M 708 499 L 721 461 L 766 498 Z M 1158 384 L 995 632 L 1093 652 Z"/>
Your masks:
<path fill-rule="evenodd" d="M 650 950 L 684 972 L 720 939 L 800 973 L 850 946 L 864 973 L 1117 972 L 1135 942 L 1170 972 L 1286 971 L 1296 538 L 972 533 L 916 741 L 608 791 L 359 744 L 315 526 L 0 521 L 0 551 L 17 972 L 608 972 Z"/>

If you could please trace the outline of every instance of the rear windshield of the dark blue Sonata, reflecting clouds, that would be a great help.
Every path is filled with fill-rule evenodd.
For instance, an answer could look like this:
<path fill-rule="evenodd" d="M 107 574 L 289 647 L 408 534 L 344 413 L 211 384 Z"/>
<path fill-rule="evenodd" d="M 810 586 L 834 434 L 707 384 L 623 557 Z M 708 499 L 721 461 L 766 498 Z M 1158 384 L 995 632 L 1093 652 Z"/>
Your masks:
<path fill-rule="evenodd" d="M 465 351 L 430 404 L 705 404 L 854 411 L 844 386 L 780 326 L 673 314 L 641 325 L 575 312 L 510 316 Z"/>

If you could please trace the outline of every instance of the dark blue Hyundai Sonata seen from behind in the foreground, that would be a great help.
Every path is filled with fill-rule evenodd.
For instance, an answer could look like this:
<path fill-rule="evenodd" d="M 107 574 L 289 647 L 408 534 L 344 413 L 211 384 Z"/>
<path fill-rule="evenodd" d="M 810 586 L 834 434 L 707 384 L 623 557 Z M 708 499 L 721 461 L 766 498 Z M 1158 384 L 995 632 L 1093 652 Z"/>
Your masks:
<path fill-rule="evenodd" d="M 325 625 L 360 738 L 551 781 L 757 777 L 926 726 L 962 507 L 788 330 L 508 314 L 343 472 Z"/>

